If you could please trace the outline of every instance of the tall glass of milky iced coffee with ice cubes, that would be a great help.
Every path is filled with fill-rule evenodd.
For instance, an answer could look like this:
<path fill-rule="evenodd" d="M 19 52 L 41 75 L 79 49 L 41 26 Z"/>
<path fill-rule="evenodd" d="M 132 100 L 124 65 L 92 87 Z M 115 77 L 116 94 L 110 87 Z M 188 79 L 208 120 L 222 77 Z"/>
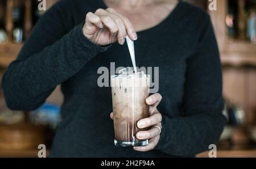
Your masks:
<path fill-rule="evenodd" d="M 137 122 L 148 117 L 146 98 L 149 95 L 150 76 L 134 73 L 130 67 L 112 75 L 112 103 L 114 113 L 114 143 L 116 146 L 144 146 L 148 140 L 138 140 Z"/>

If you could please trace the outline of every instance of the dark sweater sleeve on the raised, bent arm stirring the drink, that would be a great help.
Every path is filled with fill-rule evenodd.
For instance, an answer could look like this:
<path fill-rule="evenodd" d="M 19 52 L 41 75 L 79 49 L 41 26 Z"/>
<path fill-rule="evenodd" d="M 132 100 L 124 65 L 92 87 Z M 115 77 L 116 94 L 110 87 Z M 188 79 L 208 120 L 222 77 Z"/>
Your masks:
<path fill-rule="evenodd" d="M 86 39 L 82 33 L 84 23 L 71 27 L 68 3 L 59 1 L 42 16 L 7 68 L 2 87 L 10 109 L 31 111 L 40 107 L 58 84 L 107 49 Z"/>

